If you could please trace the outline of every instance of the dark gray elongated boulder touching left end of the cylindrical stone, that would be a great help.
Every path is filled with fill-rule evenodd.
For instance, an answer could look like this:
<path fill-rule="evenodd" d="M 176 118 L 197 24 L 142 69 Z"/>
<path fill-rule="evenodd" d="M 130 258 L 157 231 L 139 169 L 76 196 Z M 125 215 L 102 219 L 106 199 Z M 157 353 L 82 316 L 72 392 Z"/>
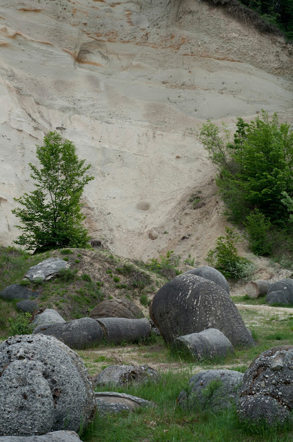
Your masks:
<path fill-rule="evenodd" d="M 33 334 L 54 336 L 70 348 L 83 349 L 96 345 L 103 339 L 101 325 L 92 318 L 81 318 L 52 325 L 39 325 Z"/>

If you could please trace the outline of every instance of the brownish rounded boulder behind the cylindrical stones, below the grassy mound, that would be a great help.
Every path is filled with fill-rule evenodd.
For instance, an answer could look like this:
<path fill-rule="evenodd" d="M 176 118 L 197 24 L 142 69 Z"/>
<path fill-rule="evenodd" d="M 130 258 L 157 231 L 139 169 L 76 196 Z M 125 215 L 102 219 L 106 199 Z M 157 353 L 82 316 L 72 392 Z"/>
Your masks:
<path fill-rule="evenodd" d="M 100 302 L 90 312 L 90 318 L 144 318 L 143 312 L 128 299 L 108 299 Z"/>

